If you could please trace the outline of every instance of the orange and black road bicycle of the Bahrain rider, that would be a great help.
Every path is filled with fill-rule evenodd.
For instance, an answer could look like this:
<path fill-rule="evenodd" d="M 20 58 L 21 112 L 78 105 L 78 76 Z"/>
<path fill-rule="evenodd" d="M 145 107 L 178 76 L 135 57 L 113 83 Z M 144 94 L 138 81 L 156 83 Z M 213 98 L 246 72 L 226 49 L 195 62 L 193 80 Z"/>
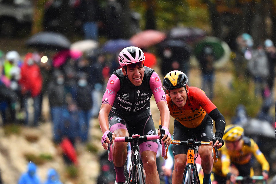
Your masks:
<path fill-rule="evenodd" d="M 175 141 L 172 140 L 171 144 L 177 145 L 187 145 L 189 147 L 187 152 L 187 164 L 185 166 L 184 174 L 183 174 L 183 184 L 200 184 L 198 170 L 196 169 L 196 158 L 198 157 L 197 146 L 202 145 L 211 145 L 210 142 L 204 141 L 195 141 L 194 139 L 189 139 L 188 141 Z M 218 150 L 214 149 L 214 161 L 218 160 Z M 187 181 L 187 182 L 186 182 Z"/>

